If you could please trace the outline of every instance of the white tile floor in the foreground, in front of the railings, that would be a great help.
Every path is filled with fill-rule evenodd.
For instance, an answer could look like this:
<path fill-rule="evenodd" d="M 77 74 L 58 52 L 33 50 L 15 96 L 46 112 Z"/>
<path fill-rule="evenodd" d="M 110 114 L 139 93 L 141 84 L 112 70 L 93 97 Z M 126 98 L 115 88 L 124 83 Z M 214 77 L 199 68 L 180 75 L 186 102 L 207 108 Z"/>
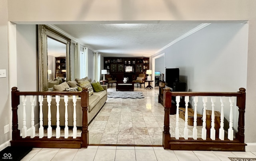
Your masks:
<path fill-rule="evenodd" d="M 88 146 L 87 149 L 33 148 L 21 161 L 230 161 L 256 152 L 176 151 L 163 147 Z"/>

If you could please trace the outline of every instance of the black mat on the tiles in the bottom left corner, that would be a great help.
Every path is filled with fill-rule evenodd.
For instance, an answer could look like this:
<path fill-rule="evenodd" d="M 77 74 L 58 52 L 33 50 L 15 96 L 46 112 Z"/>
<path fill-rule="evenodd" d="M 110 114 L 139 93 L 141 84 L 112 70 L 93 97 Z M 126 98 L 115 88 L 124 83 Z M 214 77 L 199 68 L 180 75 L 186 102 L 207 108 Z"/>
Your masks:
<path fill-rule="evenodd" d="M 0 161 L 20 161 L 31 150 L 32 147 L 6 147 L 0 151 Z"/>

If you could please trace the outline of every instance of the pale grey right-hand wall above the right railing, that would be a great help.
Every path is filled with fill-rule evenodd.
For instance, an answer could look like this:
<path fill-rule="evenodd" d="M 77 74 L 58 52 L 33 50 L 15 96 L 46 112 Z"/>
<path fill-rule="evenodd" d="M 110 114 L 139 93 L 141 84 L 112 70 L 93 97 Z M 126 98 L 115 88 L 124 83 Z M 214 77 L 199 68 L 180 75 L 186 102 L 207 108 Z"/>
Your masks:
<path fill-rule="evenodd" d="M 180 68 L 190 91 L 246 88 L 248 24 L 211 24 L 165 52 L 166 68 Z"/>

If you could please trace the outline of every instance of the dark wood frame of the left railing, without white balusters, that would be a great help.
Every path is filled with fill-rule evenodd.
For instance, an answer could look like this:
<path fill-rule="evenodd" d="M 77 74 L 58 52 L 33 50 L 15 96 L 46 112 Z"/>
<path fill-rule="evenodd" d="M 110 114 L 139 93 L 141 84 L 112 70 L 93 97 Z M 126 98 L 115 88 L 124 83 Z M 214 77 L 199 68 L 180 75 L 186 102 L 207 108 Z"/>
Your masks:
<path fill-rule="evenodd" d="M 18 130 L 18 105 L 20 104 L 20 96 L 81 96 L 81 107 L 82 107 L 82 134 L 79 139 L 38 139 L 40 141 L 35 141 L 37 139 L 25 138 L 22 139 L 20 136 L 20 130 Z M 89 144 L 89 132 L 88 132 L 88 104 L 89 104 L 89 92 L 87 88 L 82 88 L 82 92 L 57 92 L 57 91 L 47 91 L 47 92 L 20 92 L 17 87 L 12 87 L 12 141 L 11 145 L 21 146 L 28 145 L 32 147 L 88 147 Z M 48 140 L 48 141 L 47 141 Z M 56 145 L 56 141 L 59 141 Z M 24 144 L 25 143 L 25 144 Z M 70 144 L 69 144 L 70 143 Z"/>

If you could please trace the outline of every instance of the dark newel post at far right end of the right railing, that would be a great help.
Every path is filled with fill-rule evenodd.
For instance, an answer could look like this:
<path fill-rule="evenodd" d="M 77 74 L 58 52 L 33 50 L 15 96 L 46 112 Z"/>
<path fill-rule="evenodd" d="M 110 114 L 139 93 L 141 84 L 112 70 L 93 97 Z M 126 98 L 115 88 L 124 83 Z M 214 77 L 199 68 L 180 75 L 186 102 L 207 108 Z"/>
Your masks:
<path fill-rule="evenodd" d="M 236 99 L 236 106 L 238 106 L 238 132 L 236 133 L 236 138 L 240 140 L 241 143 L 244 143 L 244 113 L 245 113 L 245 99 L 246 92 L 245 88 L 239 88 L 240 96 Z"/>

